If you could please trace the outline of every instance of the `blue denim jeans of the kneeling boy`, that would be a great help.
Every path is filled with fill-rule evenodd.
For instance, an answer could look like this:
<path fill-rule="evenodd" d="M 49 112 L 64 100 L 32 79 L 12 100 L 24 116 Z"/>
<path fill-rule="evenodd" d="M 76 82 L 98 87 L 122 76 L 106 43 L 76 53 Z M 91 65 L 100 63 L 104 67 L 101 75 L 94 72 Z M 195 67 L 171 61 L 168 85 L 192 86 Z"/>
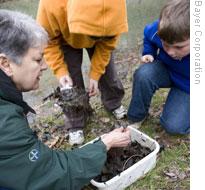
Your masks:
<path fill-rule="evenodd" d="M 135 71 L 128 119 L 139 122 L 148 114 L 152 96 L 159 88 L 171 87 L 160 122 L 172 134 L 187 134 L 190 130 L 190 95 L 173 87 L 169 72 L 159 61 L 142 65 Z"/>

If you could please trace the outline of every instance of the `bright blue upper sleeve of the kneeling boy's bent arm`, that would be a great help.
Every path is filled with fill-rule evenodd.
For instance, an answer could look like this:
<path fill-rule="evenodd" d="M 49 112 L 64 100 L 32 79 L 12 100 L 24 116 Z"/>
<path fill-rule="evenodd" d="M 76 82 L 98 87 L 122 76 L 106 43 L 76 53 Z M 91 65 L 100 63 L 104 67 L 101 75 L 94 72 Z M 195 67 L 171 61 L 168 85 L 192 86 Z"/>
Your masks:
<path fill-rule="evenodd" d="M 158 21 L 152 24 L 146 25 L 144 29 L 144 41 L 142 55 L 152 55 L 154 58 L 157 55 L 158 47 L 154 43 L 154 37 L 157 33 Z"/>

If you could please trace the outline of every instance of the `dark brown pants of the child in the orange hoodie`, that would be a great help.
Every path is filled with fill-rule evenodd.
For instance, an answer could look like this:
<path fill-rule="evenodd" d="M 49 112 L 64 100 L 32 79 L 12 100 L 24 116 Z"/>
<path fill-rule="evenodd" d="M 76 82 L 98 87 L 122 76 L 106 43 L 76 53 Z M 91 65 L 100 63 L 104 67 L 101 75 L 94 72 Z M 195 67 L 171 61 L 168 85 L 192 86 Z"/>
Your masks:
<path fill-rule="evenodd" d="M 83 49 L 75 49 L 69 45 L 64 45 L 62 50 L 64 52 L 64 61 L 68 65 L 69 74 L 73 80 L 73 85 L 85 89 L 81 70 Z M 95 47 L 87 48 L 86 50 L 88 52 L 89 58 L 91 59 L 95 51 Z M 109 64 L 106 67 L 105 73 L 99 80 L 98 87 L 101 92 L 102 103 L 106 110 L 113 111 L 121 105 L 121 100 L 124 96 L 124 88 L 117 76 L 113 54 L 111 54 L 111 58 Z M 82 117 L 82 115 L 79 115 L 79 117 Z M 77 117 L 76 120 L 78 120 Z M 82 128 L 84 125 L 85 124 L 83 122 L 78 123 L 77 127 Z M 76 128 L 76 126 L 72 126 L 72 128 Z"/>

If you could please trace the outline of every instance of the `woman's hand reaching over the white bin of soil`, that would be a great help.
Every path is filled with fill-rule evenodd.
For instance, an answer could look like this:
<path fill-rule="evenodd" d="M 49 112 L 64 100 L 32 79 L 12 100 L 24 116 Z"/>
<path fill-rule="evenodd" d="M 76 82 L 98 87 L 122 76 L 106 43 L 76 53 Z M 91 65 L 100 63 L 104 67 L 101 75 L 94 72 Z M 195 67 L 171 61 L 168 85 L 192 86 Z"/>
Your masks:
<path fill-rule="evenodd" d="M 101 137 L 107 150 L 111 147 L 125 147 L 131 143 L 130 130 L 128 128 L 117 128 Z"/>

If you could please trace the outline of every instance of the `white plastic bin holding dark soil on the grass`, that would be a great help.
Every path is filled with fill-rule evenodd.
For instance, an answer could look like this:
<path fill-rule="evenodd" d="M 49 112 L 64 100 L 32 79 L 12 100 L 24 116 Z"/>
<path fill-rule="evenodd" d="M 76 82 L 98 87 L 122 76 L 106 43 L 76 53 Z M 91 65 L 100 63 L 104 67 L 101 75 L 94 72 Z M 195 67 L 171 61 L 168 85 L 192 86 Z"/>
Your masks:
<path fill-rule="evenodd" d="M 143 147 L 148 147 L 151 149 L 151 153 L 148 154 L 143 159 L 136 162 L 134 165 L 121 172 L 119 175 L 113 177 L 106 182 L 97 182 L 91 180 L 92 185 L 96 186 L 100 190 L 121 190 L 130 186 L 140 177 L 143 177 L 148 171 L 156 165 L 157 153 L 159 152 L 159 144 L 147 136 L 146 134 L 140 132 L 139 130 L 128 126 L 131 129 L 132 141 L 137 141 Z M 95 141 L 94 139 L 93 141 Z M 93 141 L 89 142 L 92 143 Z"/>

